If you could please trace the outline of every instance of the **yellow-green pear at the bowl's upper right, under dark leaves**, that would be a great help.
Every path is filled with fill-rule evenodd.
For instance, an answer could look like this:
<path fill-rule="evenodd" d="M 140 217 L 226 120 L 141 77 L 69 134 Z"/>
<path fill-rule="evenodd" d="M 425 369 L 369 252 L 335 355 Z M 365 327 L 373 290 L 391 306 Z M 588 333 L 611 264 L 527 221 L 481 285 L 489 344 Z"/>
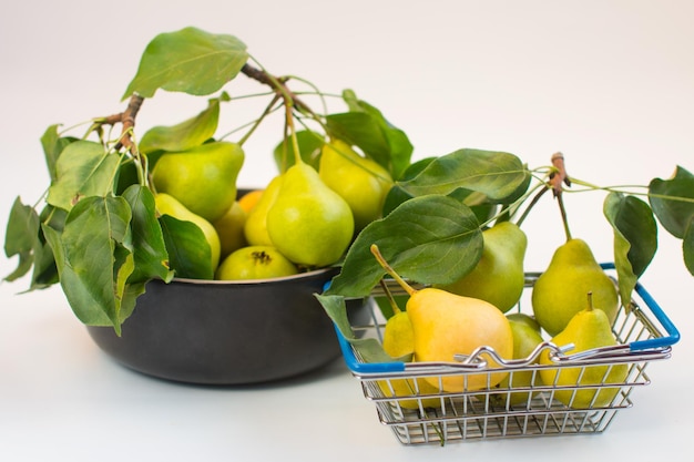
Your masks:
<path fill-rule="evenodd" d="M 381 217 L 384 201 L 392 186 L 390 173 L 381 165 L 363 157 L 344 141 L 334 140 L 323 145 L 318 173 L 349 204 L 355 230 Z"/>

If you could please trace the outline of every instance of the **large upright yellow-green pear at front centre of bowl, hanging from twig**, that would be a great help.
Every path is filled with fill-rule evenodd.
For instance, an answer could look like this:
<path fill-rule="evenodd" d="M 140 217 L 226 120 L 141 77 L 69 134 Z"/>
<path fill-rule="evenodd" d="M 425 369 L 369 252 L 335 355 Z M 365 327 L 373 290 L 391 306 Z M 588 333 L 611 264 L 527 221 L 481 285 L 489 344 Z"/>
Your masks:
<path fill-rule="evenodd" d="M 354 236 L 349 205 L 303 162 L 284 174 L 277 199 L 267 212 L 273 245 L 297 265 L 323 267 L 337 261 Z"/>

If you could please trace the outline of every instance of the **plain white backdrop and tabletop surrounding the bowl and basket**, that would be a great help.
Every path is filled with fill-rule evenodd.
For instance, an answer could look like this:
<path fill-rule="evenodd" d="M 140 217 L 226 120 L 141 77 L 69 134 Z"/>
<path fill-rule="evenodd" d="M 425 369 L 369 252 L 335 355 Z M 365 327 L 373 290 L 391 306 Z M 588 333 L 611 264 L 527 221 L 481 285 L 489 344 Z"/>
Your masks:
<path fill-rule="evenodd" d="M 45 187 L 45 127 L 121 111 L 140 55 L 160 32 L 232 33 L 276 74 L 327 92 L 353 88 L 409 134 L 416 158 L 478 147 L 539 166 L 562 151 L 571 175 L 606 186 L 667 177 L 676 164 L 694 168 L 693 17 L 686 0 L 6 2 L 0 237 L 14 197 L 32 203 Z M 141 129 L 203 106 L 160 96 L 143 106 Z M 245 114 L 229 116 L 229 126 Z M 246 145 L 241 184 L 269 178 L 279 133 L 271 126 Z M 569 196 L 568 206 L 574 235 L 611 259 L 602 197 Z M 530 269 L 541 269 L 563 238 L 554 205 L 544 207 L 545 222 L 524 225 Z M 675 448 L 694 430 L 694 291 L 678 243 L 661 235 L 642 280 L 683 339 L 672 359 L 651 366 L 653 383 L 634 391 L 634 407 L 603 435 L 400 446 L 340 361 L 264 387 L 157 381 L 101 353 L 60 290 L 17 295 L 27 287 L 19 281 L 0 285 L 0 460 L 681 460 Z M 0 259 L 2 276 L 14 264 Z"/>

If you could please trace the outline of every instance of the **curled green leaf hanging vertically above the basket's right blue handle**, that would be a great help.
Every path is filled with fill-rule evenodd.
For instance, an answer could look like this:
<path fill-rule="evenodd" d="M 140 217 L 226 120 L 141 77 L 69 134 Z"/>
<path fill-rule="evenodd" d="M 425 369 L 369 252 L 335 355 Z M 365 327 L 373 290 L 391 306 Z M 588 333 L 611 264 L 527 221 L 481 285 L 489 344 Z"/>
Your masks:
<path fill-rule="evenodd" d="M 614 230 L 620 297 L 626 304 L 657 249 L 657 225 L 649 204 L 622 193 L 605 197 L 603 213 Z"/>

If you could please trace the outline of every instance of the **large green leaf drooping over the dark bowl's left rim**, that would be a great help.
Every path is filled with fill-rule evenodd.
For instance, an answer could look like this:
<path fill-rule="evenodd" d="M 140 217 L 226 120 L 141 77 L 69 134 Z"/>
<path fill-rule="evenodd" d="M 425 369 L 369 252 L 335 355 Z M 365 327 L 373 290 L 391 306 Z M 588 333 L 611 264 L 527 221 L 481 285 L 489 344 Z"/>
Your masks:
<path fill-rule="evenodd" d="M 62 233 L 43 226 L 55 256 L 60 284 L 85 325 L 121 332 L 124 280 L 132 271 L 131 212 L 123 197 L 86 197 L 68 214 Z"/>

